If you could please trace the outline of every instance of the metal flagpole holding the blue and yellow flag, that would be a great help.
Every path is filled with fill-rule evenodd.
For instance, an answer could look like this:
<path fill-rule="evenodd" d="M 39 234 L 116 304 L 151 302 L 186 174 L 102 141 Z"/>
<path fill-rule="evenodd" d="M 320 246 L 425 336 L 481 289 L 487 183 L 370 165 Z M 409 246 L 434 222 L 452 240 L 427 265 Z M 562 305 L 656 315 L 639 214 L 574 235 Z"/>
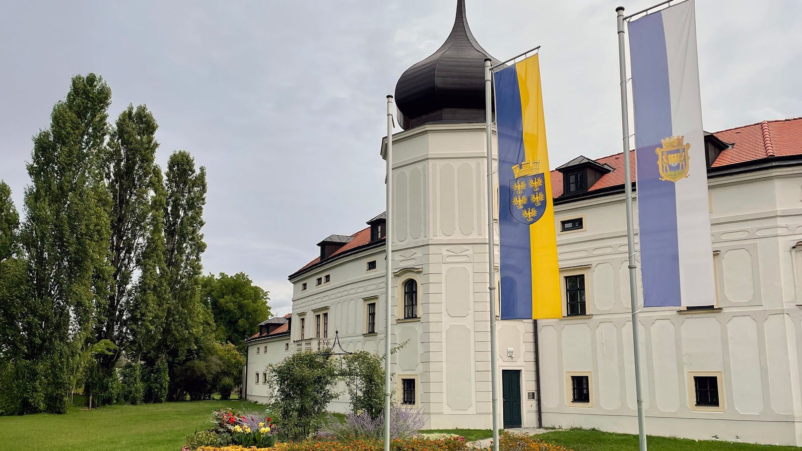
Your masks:
<path fill-rule="evenodd" d="M 490 59 L 484 59 L 484 134 L 488 143 L 488 275 L 490 278 L 490 391 L 492 393 L 493 451 L 499 451 L 498 427 L 498 366 L 496 365 L 496 227 L 493 225 L 493 209 L 496 185 L 493 183 L 493 136 L 492 136 L 492 80 Z"/>

